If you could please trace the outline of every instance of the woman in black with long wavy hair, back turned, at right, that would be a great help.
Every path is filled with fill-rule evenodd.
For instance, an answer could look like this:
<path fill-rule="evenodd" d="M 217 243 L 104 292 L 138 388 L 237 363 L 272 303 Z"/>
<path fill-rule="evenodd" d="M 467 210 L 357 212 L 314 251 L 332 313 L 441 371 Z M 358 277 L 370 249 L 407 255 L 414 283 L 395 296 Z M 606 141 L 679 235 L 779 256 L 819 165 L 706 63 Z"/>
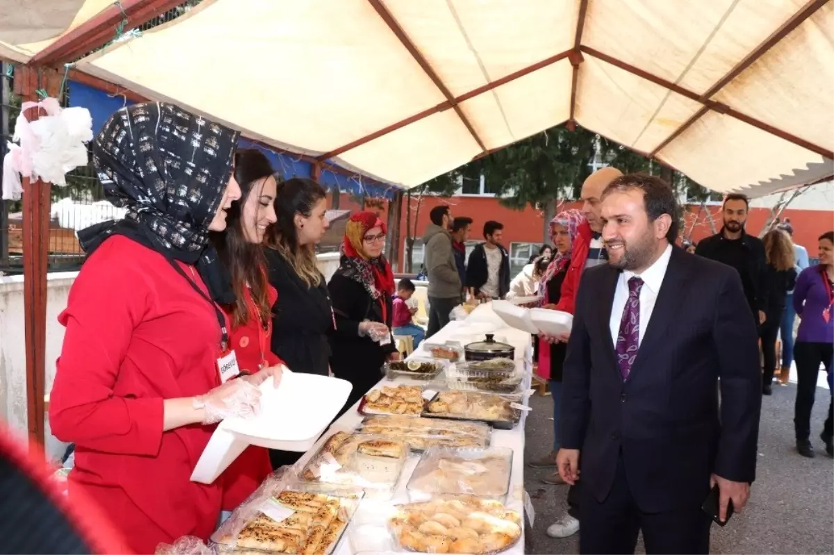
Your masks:
<path fill-rule="evenodd" d="M 765 359 L 761 393 L 771 395 L 773 374 L 776 372 L 776 336 L 779 334 L 782 313 L 785 312 L 787 292 L 796 285 L 796 257 L 787 233 L 772 229 L 762 239 L 767 258 L 767 313 L 759 328 L 761 353 Z"/>

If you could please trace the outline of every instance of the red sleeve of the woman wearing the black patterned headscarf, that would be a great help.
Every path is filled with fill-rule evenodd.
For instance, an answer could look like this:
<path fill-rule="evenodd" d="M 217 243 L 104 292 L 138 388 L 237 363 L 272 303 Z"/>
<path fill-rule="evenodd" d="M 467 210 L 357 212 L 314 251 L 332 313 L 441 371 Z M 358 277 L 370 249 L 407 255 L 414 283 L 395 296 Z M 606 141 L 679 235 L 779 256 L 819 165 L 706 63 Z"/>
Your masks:
<path fill-rule="evenodd" d="M 112 248 L 104 244 L 100 250 Z M 49 398 L 55 437 L 105 453 L 156 455 L 163 399 L 113 395 L 148 291 L 141 275 L 109 263 L 106 252 L 84 264 L 58 317 L 66 328 Z"/>

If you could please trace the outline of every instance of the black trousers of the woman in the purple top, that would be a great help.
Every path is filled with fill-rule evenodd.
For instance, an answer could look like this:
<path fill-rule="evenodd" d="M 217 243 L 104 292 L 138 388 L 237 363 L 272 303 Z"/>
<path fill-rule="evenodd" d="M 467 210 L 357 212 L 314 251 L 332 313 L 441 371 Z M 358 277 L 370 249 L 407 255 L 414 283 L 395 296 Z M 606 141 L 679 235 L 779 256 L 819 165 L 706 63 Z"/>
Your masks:
<path fill-rule="evenodd" d="M 811 408 L 814 407 L 816 381 L 820 376 L 820 364 L 831 372 L 831 358 L 834 358 L 834 343 L 808 343 L 797 341 L 793 346 L 796 360 L 796 404 L 794 405 L 793 427 L 796 439 L 811 438 Z M 834 396 L 828 405 L 825 433 L 834 435 Z"/>

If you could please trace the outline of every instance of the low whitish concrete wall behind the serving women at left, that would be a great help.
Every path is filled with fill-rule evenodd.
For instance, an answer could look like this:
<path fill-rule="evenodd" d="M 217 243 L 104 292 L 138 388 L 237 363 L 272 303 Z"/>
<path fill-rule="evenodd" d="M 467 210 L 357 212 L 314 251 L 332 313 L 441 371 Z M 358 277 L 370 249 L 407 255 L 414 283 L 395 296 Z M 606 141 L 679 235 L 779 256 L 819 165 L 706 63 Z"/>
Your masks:
<path fill-rule="evenodd" d="M 319 255 L 319 270 L 330 278 L 339 268 L 339 254 Z M 78 273 L 50 273 L 47 281 L 46 391 L 52 389 L 55 361 L 61 353 L 63 326 L 58 314 L 66 308 L 69 288 Z M 0 420 L 26 437 L 26 334 L 23 328 L 23 276 L 0 277 Z M 49 431 L 47 423 L 47 433 Z M 58 459 L 65 446 L 48 433 L 49 458 Z"/>

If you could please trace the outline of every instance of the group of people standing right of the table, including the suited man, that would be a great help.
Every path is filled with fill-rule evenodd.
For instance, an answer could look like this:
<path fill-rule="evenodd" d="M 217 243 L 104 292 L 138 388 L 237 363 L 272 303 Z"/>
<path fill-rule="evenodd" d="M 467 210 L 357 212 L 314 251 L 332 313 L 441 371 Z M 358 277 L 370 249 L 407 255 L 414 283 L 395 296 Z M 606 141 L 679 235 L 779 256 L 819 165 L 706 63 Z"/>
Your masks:
<path fill-rule="evenodd" d="M 814 456 L 817 378 L 821 368 L 834 376 L 834 232 L 819 238 L 819 265 L 809 267 L 790 223 L 763 239 L 746 233 L 741 195 L 726 197 L 719 233 L 681 248 L 666 183 L 603 168 L 581 198 L 580 211 L 550 223 L 555 256 L 540 278 L 545 308 L 574 314 L 571 333 L 541 338 L 539 350 L 555 438 L 528 464 L 556 470 L 545 483 L 570 484 L 569 510 L 547 532 L 581 532 L 588 553 L 631 553 L 638 529 L 650 553 L 708 552 L 701 504 L 717 484 L 722 520 L 728 502 L 743 507 L 761 396 L 775 377 L 787 383 L 792 355 L 796 450 Z M 820 434 L 834 457 L 832 426 L 834 396 Z"/>

